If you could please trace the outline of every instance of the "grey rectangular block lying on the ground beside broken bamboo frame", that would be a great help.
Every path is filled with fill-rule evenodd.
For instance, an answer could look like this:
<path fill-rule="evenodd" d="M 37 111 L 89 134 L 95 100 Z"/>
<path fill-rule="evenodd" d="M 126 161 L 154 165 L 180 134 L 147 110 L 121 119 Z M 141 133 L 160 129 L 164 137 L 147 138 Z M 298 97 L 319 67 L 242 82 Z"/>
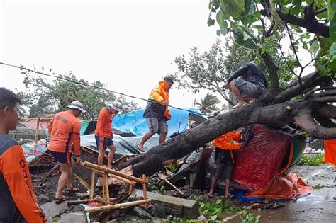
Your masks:
<path fill-rule="evenodd" d="M 142 190 L 135 190 L 137 196 L 142 197 Z M 166 205 L 166 210 L 181 209 L 180 217 L 187 217 L 196 219 L 199 216 L 198 204 L 195 200 L 187 200 L 183 198 L 175 198 L 172 196 L 162 195 L 159 193 L 152 193 L 147 191 L 147 198 L 151 199 L 153 203 L 163 203 Z"/>

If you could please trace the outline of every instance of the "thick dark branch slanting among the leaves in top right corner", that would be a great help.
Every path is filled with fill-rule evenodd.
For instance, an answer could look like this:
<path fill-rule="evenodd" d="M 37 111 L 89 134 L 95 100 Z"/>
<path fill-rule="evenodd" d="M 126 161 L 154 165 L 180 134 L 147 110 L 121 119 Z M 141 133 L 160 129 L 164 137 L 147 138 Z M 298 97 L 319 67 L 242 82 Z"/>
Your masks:
<path fill-rule="evenodd" d="M 292 16 L 288 13 L 284 13 L 279 9 L 276 9 L 276 12 L 279 14 L 284 23 L 289 23 L 292 25 L 298 25 L 302 28 L 306 28 L 308 32 L 315 33 L 317 35 L 321 35 L 325 38 L 330 38 L 329 35 L 329 26 L 323 25 L 323 23 L 319 23 L 317 20 L 312 18 L 298 18 L 296 16 Z M 263 16 L 267 16 L 267 11 L 265 9 L 260 10 L 260 13 Z"/>

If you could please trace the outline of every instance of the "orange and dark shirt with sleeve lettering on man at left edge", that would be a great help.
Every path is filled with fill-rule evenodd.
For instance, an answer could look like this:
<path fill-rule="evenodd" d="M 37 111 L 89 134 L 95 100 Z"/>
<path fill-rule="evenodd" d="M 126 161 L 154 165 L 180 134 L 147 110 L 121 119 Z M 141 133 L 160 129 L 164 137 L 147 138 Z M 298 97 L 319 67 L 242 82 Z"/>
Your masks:
<path fill-rule="evenodd" d="M 38 206 L 22 148 L 5 134 L 0 134 L 0 189 L 0 222 L 47 222 Z"/>

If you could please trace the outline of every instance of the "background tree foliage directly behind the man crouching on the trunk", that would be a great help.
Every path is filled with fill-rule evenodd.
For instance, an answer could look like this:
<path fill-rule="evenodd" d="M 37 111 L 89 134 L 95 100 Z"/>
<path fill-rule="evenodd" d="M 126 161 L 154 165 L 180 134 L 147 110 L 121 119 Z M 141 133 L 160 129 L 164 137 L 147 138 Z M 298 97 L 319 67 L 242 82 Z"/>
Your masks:
<path fill-rule="evenodd" d="M 175 59 L 178 72 L 175 74 L 175 80 L 179 88 L 199 92 L 201 89 L 218 93 L 225 101 L 232 103 L 229 99 L 229 91 L 223 89 L 223 85 L 229 76 L 246 62 L 253 61 L 257 64 L 264 74 L 267 74 L 267 67 L 264 60 L 256 50 L 249 50 L 245 47 L 235 44 L 230 39 L 225 43 L 217 40 L 210 50 L 200 52 L 197 47 L 191 48 L 189 56 L 180 55 Z M 233 38 L 234 40 L 234 38 Z M 280 52 L 277 50 L 274 38 L 269 40 L 269 50 L 274 51 L 274 62 L 280 67 L 280 86 L 285 87 L 293 79 L 291 70 L 286 65 Z"/>

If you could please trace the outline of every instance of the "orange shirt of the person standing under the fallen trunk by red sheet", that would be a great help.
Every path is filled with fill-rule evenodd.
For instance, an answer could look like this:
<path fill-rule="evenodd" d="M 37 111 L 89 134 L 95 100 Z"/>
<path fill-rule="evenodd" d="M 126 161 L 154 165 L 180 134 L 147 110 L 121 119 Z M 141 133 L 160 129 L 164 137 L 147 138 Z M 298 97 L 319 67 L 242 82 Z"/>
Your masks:
<path fill-rule="evenodd" d="M 237 142 L 241 137 L 241 132 L 227 132 L 213 140 L 213 145 L 220 149 L 237 150 L 242 145 L 240 142 Z"/>

